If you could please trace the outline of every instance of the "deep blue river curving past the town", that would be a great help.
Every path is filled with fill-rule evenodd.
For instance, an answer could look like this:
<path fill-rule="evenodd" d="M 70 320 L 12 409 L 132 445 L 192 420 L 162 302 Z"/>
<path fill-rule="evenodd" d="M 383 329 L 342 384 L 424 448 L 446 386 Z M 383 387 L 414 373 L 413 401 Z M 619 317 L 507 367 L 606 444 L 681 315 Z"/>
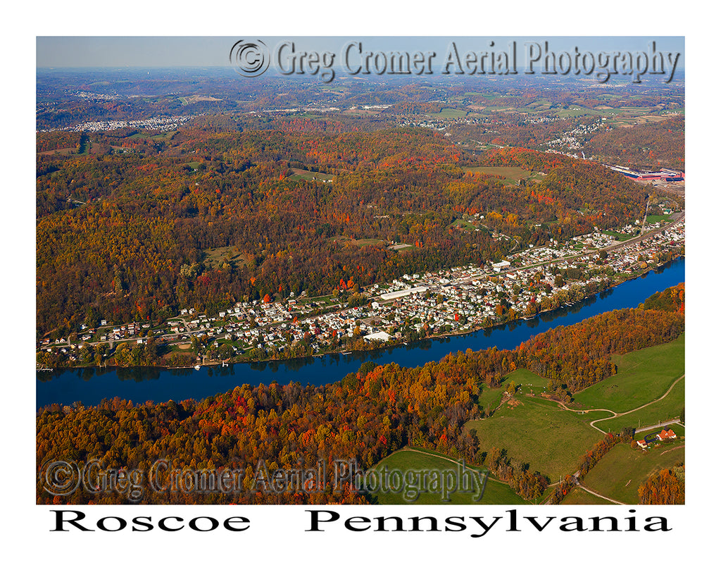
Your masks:
<path fill-rule="evenodd" d="M 570 307 L 541 313 L 531 320 L 518 320 L 467 335 L 422 340 L 381 351 L 331 354 L 291 361 L 238 363 L 225 367 L 208 366 L 198 371 L 156 367 L 39 371 L 35 379 L 35 405 L 40 408 L 53 402 L 71 405 L 80 401 L 88 406 L 112 397 L 133 402 L 203 399 L 243 383 L 268 384 L 274 380 L 279 384 L 291 381 L 301 384 L 335 382 L 350 371 L 357 371 L 366 361 L 411 367 L 438 361 L 448 353 L 468 348 L 474 351 L 493 346 L 510 349 L 559 325 L 573 325 L 613 309 L 637 307 L 656 291 L 684 282 L 685 277 L 686 263 L 681 258 L 614 289 L 589 296 Z"/>

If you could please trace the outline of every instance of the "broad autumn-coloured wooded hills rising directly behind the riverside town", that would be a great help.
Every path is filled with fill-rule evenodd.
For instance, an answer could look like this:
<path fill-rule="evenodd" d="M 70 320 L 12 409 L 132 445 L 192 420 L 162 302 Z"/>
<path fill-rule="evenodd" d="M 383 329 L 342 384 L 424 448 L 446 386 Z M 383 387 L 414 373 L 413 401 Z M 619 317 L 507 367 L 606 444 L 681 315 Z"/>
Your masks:
<path fill-rule="evenodd" d="M 642 187 L 590 163 L 499 152 L 488 162 L 548 171 L 541 182 L 504 186 L 464 176 L 465 153 L 433 131 L 328 131 L 334 122 L 190 127 L 155 135 L 162 138 L 120 129 L 92 141 L 122 152 L 40 157 L 38 335 L 66 337 L 91 312 L 112 322 L 162 320 L 182 308 L 212 313 L 242 299 L 483 264 L 517 241 L 543 245 L 642 214 Z M 298 177 L 299 167 L 332 183 Z M 464 211 L 486 213 L 485 227 L 451 227 Z M 354 242 L 368 238 L 383 243 Z M 412 250 L 390 250 L 393 242 Z M 203 251 L 229 246 L 242 257 L 204 262 Z M 181 274 L 184 265 L 195 273 Z"/>

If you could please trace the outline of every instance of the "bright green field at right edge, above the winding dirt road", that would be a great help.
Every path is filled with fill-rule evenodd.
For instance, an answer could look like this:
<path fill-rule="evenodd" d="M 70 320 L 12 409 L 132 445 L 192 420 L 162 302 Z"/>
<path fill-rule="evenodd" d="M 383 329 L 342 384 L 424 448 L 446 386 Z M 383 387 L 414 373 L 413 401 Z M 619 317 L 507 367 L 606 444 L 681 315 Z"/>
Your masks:
<path fill-rule="evenodd" d="M 618 374 L 574 395 L 580 408 L 610 409 L 616 413 L 658 399 L 684 374 L 685 335 L 671 343 L 615 356 Z M 637 416 L 638 418 L 638 416 Z"/>

